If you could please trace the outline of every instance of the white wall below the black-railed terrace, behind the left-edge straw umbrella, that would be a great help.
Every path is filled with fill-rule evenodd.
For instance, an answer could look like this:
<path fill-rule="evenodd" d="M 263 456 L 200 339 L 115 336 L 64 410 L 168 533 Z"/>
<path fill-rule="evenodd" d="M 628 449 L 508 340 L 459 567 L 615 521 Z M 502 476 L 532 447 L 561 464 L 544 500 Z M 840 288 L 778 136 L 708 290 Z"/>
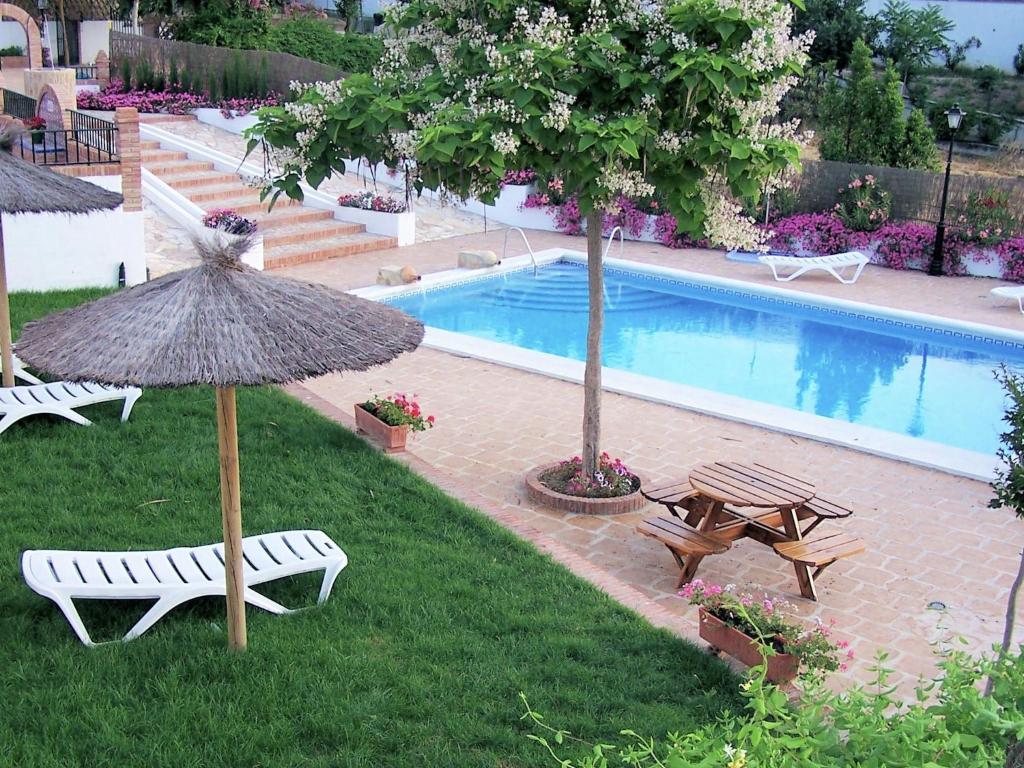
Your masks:
<path fill-rule="evenodd" d="M 86 177 L 121 191 L 120 176 Z M 3 219 L 7 282 L 11 291 L 113 287 L 123 262 L 128 285 L 145 282 L 142 213 L 103 211 L 6 215 Z"/>

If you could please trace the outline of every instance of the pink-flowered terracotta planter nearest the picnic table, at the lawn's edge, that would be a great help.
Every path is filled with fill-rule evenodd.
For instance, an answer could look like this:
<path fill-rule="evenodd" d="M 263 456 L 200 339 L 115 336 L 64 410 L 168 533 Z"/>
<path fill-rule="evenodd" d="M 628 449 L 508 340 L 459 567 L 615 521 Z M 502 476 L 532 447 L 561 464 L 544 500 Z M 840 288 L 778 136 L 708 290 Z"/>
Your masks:
<path fill-rule="evenodd" d="M 828 672 L 845 672 L 840 651 L 853 658 L 846 641 L 833 642 L 833 625 L 810 629 L 790 620 L 784 600 L 756 600 L 726 588 L 694 579 L 679 593 L 700 608 L 700 637 L 716 652 L 724 651 L 748 667 L 765 667 L 772 683 L 790 682 L 798 674 L 820 680 Z"/>

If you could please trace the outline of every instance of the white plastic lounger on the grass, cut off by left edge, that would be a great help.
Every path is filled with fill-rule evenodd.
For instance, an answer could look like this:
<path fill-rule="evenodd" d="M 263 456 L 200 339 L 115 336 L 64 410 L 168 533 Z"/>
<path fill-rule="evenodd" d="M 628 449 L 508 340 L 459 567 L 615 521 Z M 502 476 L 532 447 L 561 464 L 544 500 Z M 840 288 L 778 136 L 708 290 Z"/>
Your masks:
<path fill-rule="evenodd" d="M 76 424 L 88 426 L 91 421 L 76 413 L 85 406 L 124 400 L 121 421 L 128 421 L 135 400 L 142 396 L 136 387 L 109 387 L 105 384 L 34 384 L 29 387 L 0 389 L 0 434 L 11 424 L 27 416 L 62 416 Z"/>

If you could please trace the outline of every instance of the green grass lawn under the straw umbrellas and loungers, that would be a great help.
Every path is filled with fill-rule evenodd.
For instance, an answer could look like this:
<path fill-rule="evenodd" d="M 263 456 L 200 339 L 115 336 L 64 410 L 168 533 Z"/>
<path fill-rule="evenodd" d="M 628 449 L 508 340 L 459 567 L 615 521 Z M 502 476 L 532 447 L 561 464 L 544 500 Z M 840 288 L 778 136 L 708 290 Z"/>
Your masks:
<path fill-rule="evenodd" d="M 15 326 L 93 295 L 15 295 Z M 519 691 L 604 740 L 738 707 L 716 659 L 272 389 L 239 396 L 245 530 L 327 531 L 349 556 L 330 601 L 250 609 L 245 654 L 225 649 L 222 600 L 87 649 L 23 584 L 22 550 L 221 536 L 212 390 L 150 390 L 126 425 L 119 409 L 0 437 L 0 766 L 539 766 Z M 266 591 L 308 605 L 317 582 Z M 80 605 L 98 639 L 145 607 Z"/>

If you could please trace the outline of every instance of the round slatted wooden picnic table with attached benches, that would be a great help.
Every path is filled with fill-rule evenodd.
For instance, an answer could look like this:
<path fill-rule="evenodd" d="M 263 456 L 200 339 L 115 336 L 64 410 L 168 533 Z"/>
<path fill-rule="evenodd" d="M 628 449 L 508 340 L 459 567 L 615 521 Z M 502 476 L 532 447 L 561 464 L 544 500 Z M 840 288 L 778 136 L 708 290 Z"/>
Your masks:
<path fill-rule="evenodd" d="M 863 541 L 843 532 L 808 538 L 824 520 L 849 517 L 853 511 L 816 497 L 812 483 L 763 464 L 700 466 L 687 481 L 642 493 L 670 514 L 644 519 L 637 531 L 669 549 L 679 565 L 680 587 L 693 579 L 705 557 L 748 538 L 792 562 L 801 594 L 817 600 L 815 578 L 865 548 Z M 810 524 L 801 528 L 808 520 Z"/>

